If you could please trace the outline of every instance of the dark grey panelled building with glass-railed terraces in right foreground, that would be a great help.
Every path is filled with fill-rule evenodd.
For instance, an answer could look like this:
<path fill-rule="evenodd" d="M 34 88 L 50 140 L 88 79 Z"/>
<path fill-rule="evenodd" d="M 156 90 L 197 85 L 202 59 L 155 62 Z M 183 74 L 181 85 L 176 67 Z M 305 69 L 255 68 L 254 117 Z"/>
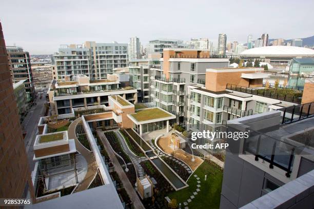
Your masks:
<path fill-rule="evenodd" d="M 314 85 L 301 105 L 227 122 L 248 138 L 228 139 L 220 208 L 312 208 Z"/>

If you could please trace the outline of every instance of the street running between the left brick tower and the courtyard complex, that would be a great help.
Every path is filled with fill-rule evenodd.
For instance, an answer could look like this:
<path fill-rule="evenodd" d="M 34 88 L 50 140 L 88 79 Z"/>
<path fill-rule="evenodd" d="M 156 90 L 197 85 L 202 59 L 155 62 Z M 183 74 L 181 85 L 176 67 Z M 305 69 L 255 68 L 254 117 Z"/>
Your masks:
<path fill-rule="evenodd" d="M 33 163 L 33 157 L 34 157 L 34 151 L 33 151 L 33 144 L 35 141 L 35 137 L 37 135 L 37 124 L 40 119 L 40 117 L 45 115 L 45 102 L 46 102 L 46 92 L 42 93 L 42 98 L 37 97 L 35 100 L 37 105 L 32 107 L 29 110 L 30 115 L 27 116 L 27 121 L 25 121 L 24 124 L 24 130 L 27 132 L 24 142 L 25 142 L 25 149 L 27 152 L 27 158 L 29 162 L 29 168 L 30 171 L 33 171 L 34 169 L 34 163 Z"/>

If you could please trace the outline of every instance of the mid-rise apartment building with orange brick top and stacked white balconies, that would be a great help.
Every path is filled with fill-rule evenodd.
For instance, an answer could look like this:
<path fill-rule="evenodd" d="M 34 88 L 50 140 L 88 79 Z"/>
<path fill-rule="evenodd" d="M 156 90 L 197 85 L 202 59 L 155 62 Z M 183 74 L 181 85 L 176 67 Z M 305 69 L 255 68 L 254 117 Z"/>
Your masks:
<path fill-rule="evenodd" d="M 160 65 L 150 67 L 151 102 L 177 116 L 177 123 L 186 121 L 188 86 L 205 84 L 207 68 L 225 68 L 227 58 L 215 58 L 209 50 L 164 49 Z"/>

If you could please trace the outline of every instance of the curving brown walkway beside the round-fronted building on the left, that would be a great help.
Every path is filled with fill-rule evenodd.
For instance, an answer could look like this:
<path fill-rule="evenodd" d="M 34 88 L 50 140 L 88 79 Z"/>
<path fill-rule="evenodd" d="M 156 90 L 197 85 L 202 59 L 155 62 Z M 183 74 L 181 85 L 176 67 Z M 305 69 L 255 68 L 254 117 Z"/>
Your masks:
<path fill-rule="evenodd" d="M 87 173 L 86 173 L 85 178 L 76 187 L 76 189 L 74 190 L 74 193 L 81 192 L 88 189 L 88 186 L 91 184 L 91 182 L 93 181 L 93 179 L 95 178 L 97 174 L 97 168 L 98 168 L 93 153 L 89 152 L 76 138 L 75 129 L 76 129 L 77 124 L 80 122 L 82 122 L 82 119 L 77 118 L 70 124 L 69 129 L 68 129 L 68 136 L 69 136 L 69 139 L 75 140 L 76 150 L 79 153 L 81 153 L 81 155 L 85 158 L 88 164 L 88 168 L 87 168 Z"/>

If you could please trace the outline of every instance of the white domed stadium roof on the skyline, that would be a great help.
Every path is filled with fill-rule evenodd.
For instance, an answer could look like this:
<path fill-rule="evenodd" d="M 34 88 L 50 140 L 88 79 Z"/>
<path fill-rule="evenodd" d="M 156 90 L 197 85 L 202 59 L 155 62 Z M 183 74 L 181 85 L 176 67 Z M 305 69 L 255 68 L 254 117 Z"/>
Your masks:
<path fill-rule="evenodd" d="M 240 55 L 313 55 L 314 50 L 304 47 L 269 46 L 245 50 Z"/>

